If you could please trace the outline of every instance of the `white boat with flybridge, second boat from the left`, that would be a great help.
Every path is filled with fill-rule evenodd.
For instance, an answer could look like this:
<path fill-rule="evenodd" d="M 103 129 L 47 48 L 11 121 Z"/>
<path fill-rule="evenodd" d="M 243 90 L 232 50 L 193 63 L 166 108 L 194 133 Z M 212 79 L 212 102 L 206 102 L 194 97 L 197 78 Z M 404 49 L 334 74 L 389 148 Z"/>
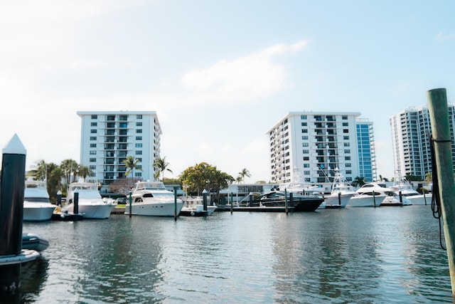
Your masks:
<path fill-rule="evenodd" d="M 78 182 L 69 185 L 67 203 L 61 208 L 61 213 L 75 213 L 75 192 L 78 194 L 78 212 L 76 213 L 82 214 L 83 219 L 108 219 L 112 209 L 116 206 L 113 199 L 102 199 L 97 184 L 80 179 Z"/>

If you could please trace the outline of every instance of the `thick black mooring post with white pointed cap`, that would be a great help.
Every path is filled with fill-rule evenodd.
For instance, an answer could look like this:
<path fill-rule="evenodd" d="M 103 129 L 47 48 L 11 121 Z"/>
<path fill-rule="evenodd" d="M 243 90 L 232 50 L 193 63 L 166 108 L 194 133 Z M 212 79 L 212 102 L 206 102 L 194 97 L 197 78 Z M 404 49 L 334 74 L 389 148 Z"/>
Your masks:
<path fill-rule="evenodd" d="M 23 191 L 26 180 L 26 149 L 17 135 L 3 150 L 0 179 L 0 259 L 22 251 Z M 21 263 L 0 263 L 0 291 L 20 287 Z"/>

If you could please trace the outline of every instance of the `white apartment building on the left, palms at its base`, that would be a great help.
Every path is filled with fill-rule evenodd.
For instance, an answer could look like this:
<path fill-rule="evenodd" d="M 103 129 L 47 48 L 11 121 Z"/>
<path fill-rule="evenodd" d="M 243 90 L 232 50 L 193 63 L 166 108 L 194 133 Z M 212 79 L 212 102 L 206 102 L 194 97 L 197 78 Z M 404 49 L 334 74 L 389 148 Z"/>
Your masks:
<path fill-rule="evenodd" d="M 127 156 L 139 159 L 133 171 L 139 179 L 154 179 L 154 161 L 160 153 L 161 127 L 154 111 L 77 112 L 81 117 L 80 164 L 90 167 L 103 189 L 124 179 Z M 88 179 L 88 178 L 87 178 Z"/>

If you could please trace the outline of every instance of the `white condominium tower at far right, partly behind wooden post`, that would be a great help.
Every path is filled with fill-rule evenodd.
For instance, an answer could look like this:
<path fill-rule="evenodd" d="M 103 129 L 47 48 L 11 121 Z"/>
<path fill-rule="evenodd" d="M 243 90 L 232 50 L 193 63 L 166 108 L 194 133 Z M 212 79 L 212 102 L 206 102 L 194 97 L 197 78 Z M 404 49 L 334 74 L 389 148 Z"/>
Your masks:
<path fill-rule="evenodd" d="M 455 164 L 454 124 L 454 105 L 449 105 L 452 162 Z M 432 127 L 428 108 L 426 106 L 407 108 L 390 117 L 390 129 L 392 131 L 395 178 L 402 179 L 407 175 L 412 175 L 424 179 L 425 174 L 432 172 L 429 142 Z"/>

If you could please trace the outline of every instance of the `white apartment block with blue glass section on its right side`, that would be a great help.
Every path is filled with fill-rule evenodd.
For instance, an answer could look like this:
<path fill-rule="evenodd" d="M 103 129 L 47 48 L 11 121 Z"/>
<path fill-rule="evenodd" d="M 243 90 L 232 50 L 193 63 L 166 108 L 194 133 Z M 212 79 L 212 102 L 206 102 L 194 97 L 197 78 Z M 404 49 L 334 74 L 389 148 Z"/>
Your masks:
<path fill-rule="evenodd" d="M 271 182 L 324 187 L 338 168 L 348 181 L 376 179 L 373 123 L 360 112 L 289 112 L 267 131 Z"/>

